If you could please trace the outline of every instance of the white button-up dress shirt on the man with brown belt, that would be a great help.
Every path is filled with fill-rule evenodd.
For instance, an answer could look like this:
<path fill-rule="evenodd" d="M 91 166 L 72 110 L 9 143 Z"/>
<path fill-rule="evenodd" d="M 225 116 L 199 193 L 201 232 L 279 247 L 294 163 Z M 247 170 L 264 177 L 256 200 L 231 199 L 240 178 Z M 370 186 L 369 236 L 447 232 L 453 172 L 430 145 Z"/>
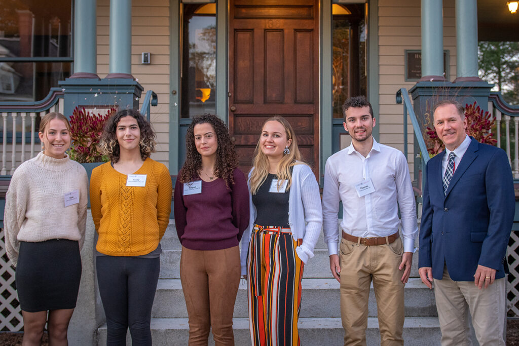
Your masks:
<path fill-rule="evenodd" d="M 355 185 L 371 179 L 375 191 L 359 197 Z M 330 255 L 337 254 L 339 201 L 343 202 L 346 233 L 354 237 L 387 237 L 398 231 L 402 215 L 405 252 L 413 252 L 418 233 L 415 197 L 409 167 L 402 151 L 373 139 L 364 157 L 353 144 L 326 160 L 323 187 L 324 239 Z M 397 204 L 398 202 L 398 204 Z"/>

